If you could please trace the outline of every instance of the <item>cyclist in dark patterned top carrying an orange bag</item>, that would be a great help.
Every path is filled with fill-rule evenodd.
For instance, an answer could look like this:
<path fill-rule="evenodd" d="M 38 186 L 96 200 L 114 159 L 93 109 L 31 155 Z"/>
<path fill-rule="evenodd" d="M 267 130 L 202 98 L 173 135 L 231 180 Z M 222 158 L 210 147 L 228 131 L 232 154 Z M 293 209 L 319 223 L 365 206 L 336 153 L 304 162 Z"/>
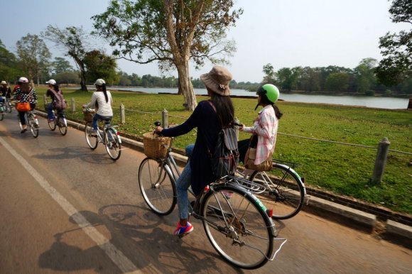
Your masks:
<path fill-rule="evenodd" d="M 18 79 L 18 87 L 16 88 L 16 93 L 14 94 L 14 99 L 17 100 L 18 103 L 29 103 L 30 109 L 33 110 L 36 107 L 37 101 L 37 94 L 33 87 L 30 86 L 28 83 L 28 79 L 26 77 L 20 77 Z M 27 131 L 26 125 L 26 111 L 18 111 L 18 116 L 20 117 L 22 130 L 21 133 Z"/>

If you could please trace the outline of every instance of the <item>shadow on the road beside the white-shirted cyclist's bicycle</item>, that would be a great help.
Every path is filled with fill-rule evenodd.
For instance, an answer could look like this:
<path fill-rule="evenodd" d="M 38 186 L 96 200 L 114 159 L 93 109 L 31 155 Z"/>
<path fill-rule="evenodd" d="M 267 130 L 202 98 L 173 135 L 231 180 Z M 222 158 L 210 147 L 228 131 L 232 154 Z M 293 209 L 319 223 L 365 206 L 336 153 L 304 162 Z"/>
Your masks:
<path fill-rule="evenodd" d="M 115 163 L 112 159 L 108 158 L 107 153 L 97 153 L 96 151 L 90 150 L 90 148 L 81 146 L 49 148 L 47 152 L 33 155 L 33 157 L 45 160 L 67 160 L 76 158 L 87 163 L 107 165 Z"/>

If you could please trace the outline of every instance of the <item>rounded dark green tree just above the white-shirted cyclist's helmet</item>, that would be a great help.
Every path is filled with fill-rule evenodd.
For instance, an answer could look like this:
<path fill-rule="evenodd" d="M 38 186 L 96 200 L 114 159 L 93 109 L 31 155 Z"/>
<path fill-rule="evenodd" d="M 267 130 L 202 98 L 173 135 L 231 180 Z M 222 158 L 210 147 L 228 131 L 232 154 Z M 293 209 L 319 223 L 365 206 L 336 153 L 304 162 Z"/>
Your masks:
<path fill-rule="evenodd" d="M 86 53 L 83 60 L 87 70 L 87 78 L 95 81 L 104 79 L 107 84 L 114 84 L 119 80 L 116 72 L 116 60 L 102 53 L 100 50 L 92 50 Z"/>

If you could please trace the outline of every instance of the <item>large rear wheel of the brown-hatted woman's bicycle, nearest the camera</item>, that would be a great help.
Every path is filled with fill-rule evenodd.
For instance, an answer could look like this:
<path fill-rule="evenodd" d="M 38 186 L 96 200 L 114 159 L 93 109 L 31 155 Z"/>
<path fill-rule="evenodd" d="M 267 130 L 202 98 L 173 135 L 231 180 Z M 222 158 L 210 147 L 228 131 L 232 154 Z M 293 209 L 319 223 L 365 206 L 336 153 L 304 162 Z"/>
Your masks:
<path fill-rule="evenodd" d="M 260 268 L 273 253 L 273 221 L 258 201 L 240 187 L 212 185 L 200 206 L 207 239 L 225 261 L 239 268 Z"/>

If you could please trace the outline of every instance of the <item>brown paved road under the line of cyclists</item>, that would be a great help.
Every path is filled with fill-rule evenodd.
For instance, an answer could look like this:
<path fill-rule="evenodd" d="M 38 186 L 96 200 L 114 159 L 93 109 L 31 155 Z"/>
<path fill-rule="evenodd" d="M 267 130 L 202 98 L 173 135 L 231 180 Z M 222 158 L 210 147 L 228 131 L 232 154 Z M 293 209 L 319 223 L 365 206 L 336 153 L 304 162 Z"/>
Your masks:
<path fill-rule="evenodd" d="M 176 212 L 148 211 L 137 188 L 144 155 L 113 162 L 81 131 L 21 134 L 0 121 L 0 273 L 249 273 L 224 263 L 202 224 L 176 239 Z M 277 224 L 288 242 L 254 273 L 412 273 L 412 251 L 307 212 Z"/>

